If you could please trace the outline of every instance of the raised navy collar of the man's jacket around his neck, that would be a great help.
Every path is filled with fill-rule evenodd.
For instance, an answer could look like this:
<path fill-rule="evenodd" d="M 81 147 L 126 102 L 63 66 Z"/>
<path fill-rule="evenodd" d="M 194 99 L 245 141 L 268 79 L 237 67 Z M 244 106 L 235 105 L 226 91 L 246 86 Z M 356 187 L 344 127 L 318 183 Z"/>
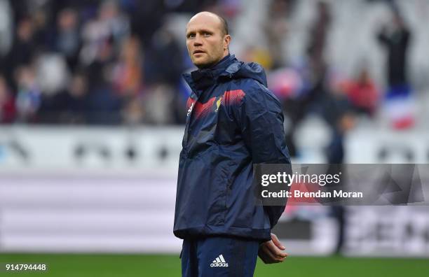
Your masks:
<path fill-rule="evenodd" d="M 191 90 L 200 97 L 200 94 L 203 93 L 207 87 L 210 87 L 217 83 L 217 80 L 220 76 L 231 76 L 231 73 L 228 71 L 231 67 L 231 64 L 238 63 L 238 59 L 236 59 L 235 55 L 227 55 L 223 59 L 220 60 L 214 66 L 208 69 L 198 69 L 196 71 L 192 71 L 191 73 L 184 73 L 183 78 L 186 80 L 186 83 L 189 84 Z M 237 66 L 238 69 L 238 66 Z"/>

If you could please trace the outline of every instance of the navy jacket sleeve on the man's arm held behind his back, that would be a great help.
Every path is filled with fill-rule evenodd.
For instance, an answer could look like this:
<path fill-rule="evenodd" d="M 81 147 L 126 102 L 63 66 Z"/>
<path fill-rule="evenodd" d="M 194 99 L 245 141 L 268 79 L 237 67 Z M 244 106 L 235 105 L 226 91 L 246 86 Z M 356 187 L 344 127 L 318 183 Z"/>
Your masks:
<path fill-rule="evenodd" d="M 280 102 L 272 92 L 264 87 L 246 92 L 240 106 L 240 127 L 253 164 L 290 164 L 283 120 Z M 271 229 L 285 205 L 286 201 L 283 206 L 264 206 Z"/>

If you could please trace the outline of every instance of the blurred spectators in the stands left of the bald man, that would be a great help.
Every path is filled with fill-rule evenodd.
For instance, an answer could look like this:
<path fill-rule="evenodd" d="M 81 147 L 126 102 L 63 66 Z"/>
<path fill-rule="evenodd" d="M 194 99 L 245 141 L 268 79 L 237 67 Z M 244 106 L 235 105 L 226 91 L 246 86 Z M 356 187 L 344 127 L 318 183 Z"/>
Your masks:
<path fill-rule="evenodd" d="M 1 1 L 1 122 L 182 122 L 186 61 L 163 20 L 209 3 L 175 2 Z"/>

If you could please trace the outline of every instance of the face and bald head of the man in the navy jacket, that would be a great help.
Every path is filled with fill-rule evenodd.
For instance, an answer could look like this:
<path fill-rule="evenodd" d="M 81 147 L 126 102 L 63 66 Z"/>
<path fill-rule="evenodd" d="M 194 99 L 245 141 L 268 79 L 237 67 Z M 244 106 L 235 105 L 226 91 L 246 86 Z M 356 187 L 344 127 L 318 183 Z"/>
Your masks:
<path fill-rule="evenodd" d="M 216 15 L 199 13 L 186 26 L 186 47 L 193 64 L 206 68 L 228 54 L 231 37 L 223 34 L 222 23 Z"/>

